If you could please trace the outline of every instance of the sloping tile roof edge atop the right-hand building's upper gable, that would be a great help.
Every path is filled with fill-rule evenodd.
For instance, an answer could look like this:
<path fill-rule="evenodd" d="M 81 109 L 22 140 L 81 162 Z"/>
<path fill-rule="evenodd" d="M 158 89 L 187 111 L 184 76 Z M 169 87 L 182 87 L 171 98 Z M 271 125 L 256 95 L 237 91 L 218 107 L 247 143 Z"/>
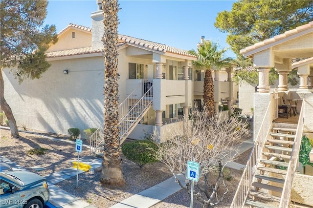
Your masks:
<path fill-rule="evenodd" d="M 308 30 L 308 29 L 312 29 L 313 30 L 313 21 L 310 21 L 308 24 L 304 24 L 304 25 L 301 25 L 299 27 L 296 27 L 295 29 L 286 31 L 285 33 L 282 33 L 280 35 L 276 35 L 273 38 L 266 39 L 263 42 L 257 42 L 254 45 L 250 45 L 250 46 L 240 50 L 240 53 L 241 54 L 245 54 L 245 53 L 247 53 L 249 51 L 256 50 L 256 49 L 258 49 L 260 47 L 269 45 L 271 43 L 274 43 L 274 42 L 277 42 L 279 40 L 285 39 L 285 38 L 287 38 L 287 37 L 289 37 L 291 35 L 295 35 L 297 33 L 300 33 L 303 30 Z"/>

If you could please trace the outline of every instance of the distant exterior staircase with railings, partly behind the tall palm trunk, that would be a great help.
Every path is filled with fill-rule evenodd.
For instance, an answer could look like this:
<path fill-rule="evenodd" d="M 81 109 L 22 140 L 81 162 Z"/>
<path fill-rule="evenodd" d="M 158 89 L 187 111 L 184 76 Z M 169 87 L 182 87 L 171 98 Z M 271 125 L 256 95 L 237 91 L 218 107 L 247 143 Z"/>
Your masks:
<path fill-rule="evenodd" d="M 142 87 L 142 84 L 139 84 L 139 87 Z M 138 92 L 135 89 L 123 103 L 118 107 L 119 112 L 119 135 L 120 135 L 120 144 L 122 144 L 127 136 L 133 131 L 135 126 L 141 121 L 143 116 L 148 112 L 149 108 L 152 106 L 153 100 L 153 86 L 144 89 L 143 96 L 139 99 L 136 99 L 135 92 Z M 100 126 L 89 138 L 90 143 L 90 152 L 96 154 L 96 156 L 103 156 L 103 127 Z"/>

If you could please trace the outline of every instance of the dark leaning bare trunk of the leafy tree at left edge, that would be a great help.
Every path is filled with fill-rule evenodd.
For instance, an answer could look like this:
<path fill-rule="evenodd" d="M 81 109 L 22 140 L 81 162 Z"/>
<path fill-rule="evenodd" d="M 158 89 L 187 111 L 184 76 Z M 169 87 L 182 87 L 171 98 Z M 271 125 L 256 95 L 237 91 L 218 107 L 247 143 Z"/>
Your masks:
<path fill-rule="evenodd" d="M 6 103 L 6 100 L 4 99 L 4 84 L 3 84 L 3 77 L 2 77 L 2 68 L 0 71 L 0 106 L 2 108 L 2 110 L 5 113 L 6 118 L 9 121 L 9 126 L 10 126 L 10 130 L 11 130 L 11 137 L 12 138 L 19 138 L 19 131 L 18 128 L 16 126 L 16 121 L 15 118 L 13 116 L 11 107 L 9 104 Z"/>

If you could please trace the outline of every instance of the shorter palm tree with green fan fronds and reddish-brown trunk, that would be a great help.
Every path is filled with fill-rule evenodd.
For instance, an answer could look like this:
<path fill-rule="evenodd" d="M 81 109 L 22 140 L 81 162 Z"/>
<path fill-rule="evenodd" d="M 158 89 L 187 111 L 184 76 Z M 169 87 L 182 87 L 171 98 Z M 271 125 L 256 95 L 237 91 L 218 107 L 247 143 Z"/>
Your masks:
<path fill-rule="evenodd" d="M 232 58 L 224 58 L 228 48 L 220 49 L 218 42 L 205 41 L 199 43 L 197 52 L 190 50 L 189 53 L 196 55 L 197 61 L 193 61 L 196 68 L 205 68 L 203 84 L 203 103 L 210 115 L 214 114 L 214 84 L 212 78 L 213 67 L 218 70 L 231 65 Z"/>

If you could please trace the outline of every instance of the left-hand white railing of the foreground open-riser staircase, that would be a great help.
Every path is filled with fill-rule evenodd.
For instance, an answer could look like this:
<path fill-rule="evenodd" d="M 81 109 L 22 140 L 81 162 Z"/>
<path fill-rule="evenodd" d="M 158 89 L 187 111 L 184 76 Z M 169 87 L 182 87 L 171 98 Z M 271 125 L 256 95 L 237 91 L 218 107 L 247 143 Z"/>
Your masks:
<path fill-rule="evenodd" d="M 249 189 L 252 184 L 255 171 L 257 170 L 258 163 L 261 159 L 262 151 L 265 142 L 267 141 L 268 133 L 271 127 L 271 116 L 269 107 L 270 103 L 268 104 L 268 108 L 265 113 L 262 125 L 254 142 L 254 146 L 252 147 L 249 159 L 246 163 L 243 176 L 240 179 L 234 199 L 231 203 L 231 208 L 242 208 L 245 205 L 246 198 L 248 196 Z"/>

